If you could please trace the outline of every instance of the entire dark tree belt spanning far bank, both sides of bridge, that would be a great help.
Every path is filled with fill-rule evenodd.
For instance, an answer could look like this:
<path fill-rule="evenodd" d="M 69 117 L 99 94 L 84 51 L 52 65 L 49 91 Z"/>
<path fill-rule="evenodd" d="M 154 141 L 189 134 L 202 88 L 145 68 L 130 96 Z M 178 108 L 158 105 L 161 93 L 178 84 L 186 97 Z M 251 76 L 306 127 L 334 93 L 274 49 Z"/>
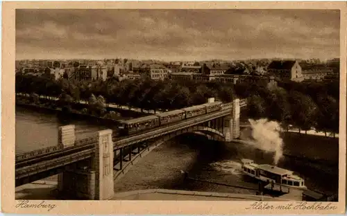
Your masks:
<path fill-rule="evenodd" d="M 84 101 L 94 114 L 103 114 L 103 106 L 110 104 L 137 107 L 143 110 L 182 109 L 217 98 L 231 102 L 248 98 L 249 118 L 269 118 L 284 127 L 294 125 L 302 130 L 314 127 L 321 132 L 339 132 L 339 81 L 334 82 L 278 82 L 278 88 L 268 89 L 264 83 L 221 83 L 194 80 L 103 81 L 53 80 L 19 73 L 16 93 L 35 93 L 46 99 L 59 98 L 59 106 Z M 91 102 L 92 101 L 92 102 Z"/>

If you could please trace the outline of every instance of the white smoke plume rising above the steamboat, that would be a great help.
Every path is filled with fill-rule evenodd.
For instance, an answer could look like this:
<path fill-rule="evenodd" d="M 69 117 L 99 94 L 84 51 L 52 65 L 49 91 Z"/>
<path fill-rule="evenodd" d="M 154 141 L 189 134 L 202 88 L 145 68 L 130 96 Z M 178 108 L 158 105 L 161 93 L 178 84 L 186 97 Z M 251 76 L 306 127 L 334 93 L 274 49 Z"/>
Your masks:
<path fill-rule="evenodd" d="M 251 123 L 252 138 L 255 140 L 253 145 L 266 152 L 275 152 L 273 162 L 277 165 L 283 155 L 283 140 L 280 138 L 280 124 L 267 119 L 248 119 L 248 121 Z"/>

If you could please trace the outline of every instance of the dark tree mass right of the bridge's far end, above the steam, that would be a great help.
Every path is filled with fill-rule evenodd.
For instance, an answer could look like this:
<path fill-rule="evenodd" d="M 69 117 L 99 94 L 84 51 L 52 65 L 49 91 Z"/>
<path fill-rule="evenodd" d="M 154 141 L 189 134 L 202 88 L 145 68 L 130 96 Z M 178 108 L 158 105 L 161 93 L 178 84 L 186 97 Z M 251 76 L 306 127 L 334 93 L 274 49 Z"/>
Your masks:
<path fill-rule="evenodd" d="M 277 120 L 307 132 L 339 133 L 339 81 L 278 82 L 273 91 L 246 87 L 248 116 Z"/>

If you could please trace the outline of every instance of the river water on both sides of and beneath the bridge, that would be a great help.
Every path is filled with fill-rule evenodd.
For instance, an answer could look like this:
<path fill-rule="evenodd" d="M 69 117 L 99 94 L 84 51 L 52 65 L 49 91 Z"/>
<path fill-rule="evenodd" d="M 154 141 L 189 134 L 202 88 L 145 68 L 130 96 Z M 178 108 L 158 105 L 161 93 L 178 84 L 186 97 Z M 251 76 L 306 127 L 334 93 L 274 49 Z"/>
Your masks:
<path fill-rule="evenodd" d="M 58 127 L 67 124 L 76 125 L 76 138 L 92 136 L 98 130 L 110 128 L 86 120 L 60 120 L 56 114 L 42 114 L 41 111 L 16 107 L 16 154 L 57 145 Z M 303 138 L 298 142 L 296 138 L 294 135 L 284 139 L 285 153 L 326 155 L 327 161 L 307 161 L 293 156 L 282 156 L 278 166 L 300 173 L 310 189 L 337 193 L 339 177 L 337 142 L 310 142 Z M 303 142 L 300 143 L 300 140 Z M 253 159 L 256 163 L 272 163 L 273 153 L 258 150 L 251 145 L 208 141 L 205 137 L 195 134 L 178 136 L 160 145 L 134 165 L 115 183 L 115 191 L 166 188 L 252 194 L 255 193 L 253 190 L 183 180 L 180 172 L 180 170 L 187 171 L 189 177 L 194 179 L 257 188 L 257 183 L 241 174 L 242 158 Z"/>

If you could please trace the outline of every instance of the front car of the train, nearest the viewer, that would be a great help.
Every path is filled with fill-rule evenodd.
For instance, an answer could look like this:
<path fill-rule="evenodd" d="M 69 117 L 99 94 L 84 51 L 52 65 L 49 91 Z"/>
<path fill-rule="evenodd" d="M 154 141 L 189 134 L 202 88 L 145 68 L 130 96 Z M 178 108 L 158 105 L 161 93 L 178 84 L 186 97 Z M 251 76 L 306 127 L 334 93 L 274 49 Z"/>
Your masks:
<path fill-rule="evenodd" d="M 144 116 L 141 118 L 133 118 L 130 120 L 122 120 L 119 122 L 119 133 L 122 136 L 135 134 L 141 132 L 144 129 L 150 129 L 152 127 L 158 127 L 160 125 L 160 119 L 158 116 Z"/>

